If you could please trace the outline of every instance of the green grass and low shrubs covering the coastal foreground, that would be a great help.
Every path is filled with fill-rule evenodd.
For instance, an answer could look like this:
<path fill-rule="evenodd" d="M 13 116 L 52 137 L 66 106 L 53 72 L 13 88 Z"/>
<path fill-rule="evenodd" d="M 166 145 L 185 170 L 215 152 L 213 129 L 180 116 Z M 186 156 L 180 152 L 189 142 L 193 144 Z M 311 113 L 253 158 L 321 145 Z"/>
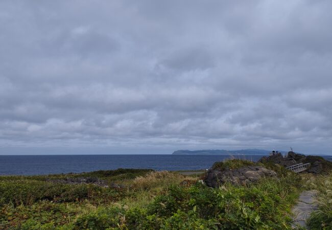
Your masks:
<path fill-rule="evenodd" d="M 252 163 L 218 164 L 236 168 Z M 331 229 L 332 174 L 298 175 L 267 167 L 278 178 L 218 189 L 202 185 L 199 172 L 186 176 L 118 169 L 0 176 L 0 229 L 292 229 L 291 208 L 302 190 L 312 188 L 320 191 L 312 229 L 323 229 L 324 221 L 324 229 Z M 66 182 L 75 178 L 102 183 Z"/>

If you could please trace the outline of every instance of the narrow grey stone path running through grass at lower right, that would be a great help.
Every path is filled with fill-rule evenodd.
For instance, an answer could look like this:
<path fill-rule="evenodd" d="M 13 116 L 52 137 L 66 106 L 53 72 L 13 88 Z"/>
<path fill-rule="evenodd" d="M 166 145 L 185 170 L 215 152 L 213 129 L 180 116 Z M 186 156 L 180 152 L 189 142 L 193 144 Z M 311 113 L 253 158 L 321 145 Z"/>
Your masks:
<path fill-rule="evenodd" d="M 298 224 L 302 227 L 306 227 L 305 221 L 309 218 L 310 214 L 317 210 L 317 204 L 315 203 L 315 195 L 317 191 L 303 191 L 300 194 L 297 204 L 294 206 L 292 212 L 294 213 L 294 224 Z M 308 228 L 307 228 L 308 229 Z"/>

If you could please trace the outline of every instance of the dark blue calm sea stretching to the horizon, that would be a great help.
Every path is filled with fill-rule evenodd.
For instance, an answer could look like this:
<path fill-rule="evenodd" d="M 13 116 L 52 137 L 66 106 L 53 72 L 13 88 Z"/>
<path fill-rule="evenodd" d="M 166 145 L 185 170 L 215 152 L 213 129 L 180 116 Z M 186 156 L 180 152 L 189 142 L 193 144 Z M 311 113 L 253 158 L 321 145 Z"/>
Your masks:
<path fill-rule="evenodd" d="M 226 158 L 256 161 L 260 157 L 262 155 L 0 155 L 0 175 L 79 173 L 118 168 L 197 170 L 208 169 Z"/>

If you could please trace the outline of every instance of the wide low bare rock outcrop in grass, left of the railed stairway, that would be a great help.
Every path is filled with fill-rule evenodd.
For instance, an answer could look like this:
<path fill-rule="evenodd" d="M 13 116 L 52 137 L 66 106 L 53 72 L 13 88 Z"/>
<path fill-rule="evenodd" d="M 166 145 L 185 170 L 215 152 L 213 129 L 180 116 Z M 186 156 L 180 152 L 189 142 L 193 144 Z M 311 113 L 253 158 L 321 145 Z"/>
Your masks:
<path fill-rule="evenodd" d="M 275 177 L 277 174 L 262 166 L 248 166 L 233 170 L 209 169 L 204 182 L 209 187 L 218 188 L 219 185 L 225 182 L 231 182 L 233 185 L 246 185 L 267 176 Z"/>

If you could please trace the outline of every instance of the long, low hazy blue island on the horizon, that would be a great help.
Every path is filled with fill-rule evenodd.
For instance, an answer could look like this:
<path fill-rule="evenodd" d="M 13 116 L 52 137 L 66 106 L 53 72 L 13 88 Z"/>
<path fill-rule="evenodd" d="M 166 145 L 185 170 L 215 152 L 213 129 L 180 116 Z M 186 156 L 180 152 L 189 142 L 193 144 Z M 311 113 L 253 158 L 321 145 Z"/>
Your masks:
<path fill-rule="evenodd" d="M 268 155 L 271 151 L 264 149 L 241 149 L 241 150 L 177 150 L 172 155 Z M 287 153 L 286 151 L 279 151 Z"/>

